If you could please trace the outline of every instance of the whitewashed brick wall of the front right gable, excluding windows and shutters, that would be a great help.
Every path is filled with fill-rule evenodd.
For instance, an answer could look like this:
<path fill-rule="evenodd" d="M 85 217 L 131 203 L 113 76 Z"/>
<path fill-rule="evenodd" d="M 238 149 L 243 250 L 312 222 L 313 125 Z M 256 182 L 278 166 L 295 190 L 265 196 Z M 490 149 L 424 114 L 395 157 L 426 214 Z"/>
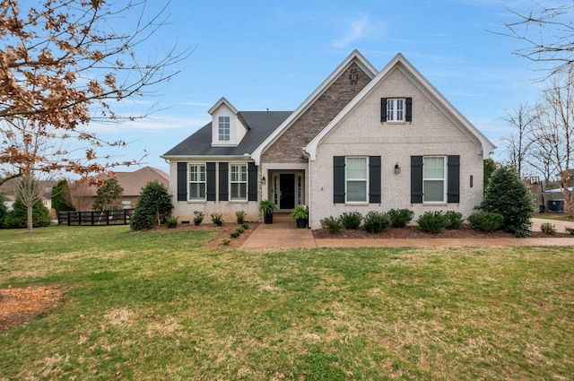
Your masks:
<path fill-rule="evenodd" d="M 381 123 L 380 99 L 413 98 L 412 123 Z M 381 203 L 345 205 L 333 203 L 334 156 L 381 156 Z M 412 155 L 460 155 L 460 203 L 411 203 Z M 396 162 L 400 174 L 394 174 Z M 470 177 L 473 186 L 470 186 Z M 328 134 L 317 148 L 317 159 L 310 164 L 310 198 L 312 229 L 320 220 L 343 212 L 370 210 L 387 212 L 408 208 L 415 221 L 423 212 L 441 210 L 461 212 L 466 218 L 483 200 L 483 154 L 425 94 L 404 74 L 395 70 Z"/>

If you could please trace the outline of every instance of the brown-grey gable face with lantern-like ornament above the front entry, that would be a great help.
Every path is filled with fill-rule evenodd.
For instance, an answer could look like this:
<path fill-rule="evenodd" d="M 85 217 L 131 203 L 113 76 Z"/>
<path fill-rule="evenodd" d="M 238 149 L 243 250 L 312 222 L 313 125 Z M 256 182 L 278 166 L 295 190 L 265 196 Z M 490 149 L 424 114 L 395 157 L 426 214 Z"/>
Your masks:
<path fill-rule="evenodd" d="M 351 84 L 349 76 L 355 69 L 358 82 Z M 359 65 L 352 63 L 335 82 L 304 112 L 279 139 L 262 155 L 261 162 L 307 163 L 301 148 L 306 146 L 333 118 L 370 82 Z"/>

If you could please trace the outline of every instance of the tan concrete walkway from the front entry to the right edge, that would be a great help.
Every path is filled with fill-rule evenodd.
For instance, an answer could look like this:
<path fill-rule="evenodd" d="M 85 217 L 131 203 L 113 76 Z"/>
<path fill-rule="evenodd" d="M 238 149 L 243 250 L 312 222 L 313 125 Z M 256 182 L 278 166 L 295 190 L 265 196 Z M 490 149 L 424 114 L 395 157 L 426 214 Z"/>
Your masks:
<path fill-rule="evenodd" d="M 540 231 L 544 222 L 557 232 L 574 228 L 574 222 L 533 219 L 533 230 Z M 297 229 L 286 214 L 274 215 L 274 223 L 260 224 L 240 248 L 281 249 L 296 247 L 523 247 L 574 246 L 572 238 L 384 238 L 384 239 L 315 239 L 311 229 Z"/>

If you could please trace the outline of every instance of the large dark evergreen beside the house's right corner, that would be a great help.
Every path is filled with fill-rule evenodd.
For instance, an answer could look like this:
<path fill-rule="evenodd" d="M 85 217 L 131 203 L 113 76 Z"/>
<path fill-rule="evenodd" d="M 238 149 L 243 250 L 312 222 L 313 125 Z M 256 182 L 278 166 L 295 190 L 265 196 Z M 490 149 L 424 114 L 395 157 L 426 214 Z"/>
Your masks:
<path fill-rule="evenodd" d="M 530 220 L 535 213 L 535 203 L 516 169 L 502 166 L 492 173 L 481 209 L 502 214 L 503 228 L 516 237 L 527 237 L 532 233 Z"/>

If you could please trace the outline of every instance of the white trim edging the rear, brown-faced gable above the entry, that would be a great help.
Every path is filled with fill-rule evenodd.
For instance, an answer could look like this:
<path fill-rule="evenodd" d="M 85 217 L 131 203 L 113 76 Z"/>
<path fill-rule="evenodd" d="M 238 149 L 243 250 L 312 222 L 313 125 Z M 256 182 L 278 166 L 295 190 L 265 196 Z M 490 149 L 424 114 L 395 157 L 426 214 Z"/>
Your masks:
<path fill-rule="evenodd" d="M 315 91 L 309 95 L 309 97 L 300 104 L 299 108 L 291 113 L 289 117 L 287 117 L 281 126 L 272 133 L 269 134 L 265 141 L 259 144 L 257 149 L 251 154 L 251 157 L 255 160 L 256 165 L 259 165 L 261 160 L 261 155 L 267 148 L 269 148 L 293 123 L 295 123 L 301 115 L 305 113 L 315 101 L 339 78 L 341 74 L 343 74 L 349 66 L 352 64 L 359 65 L 362 71 L 365 74 L 369 75 L 370 79 L 374 78 L 377 74 L 377 69 L 373 65 L 370 65 L 370 62 L 361 55 L 359 50 L 355 49 L 352 53 L 345 58 L 345 60 L 338 65 L 336 69 L 331 73 L 325 81 L 323 81 Z"/>

